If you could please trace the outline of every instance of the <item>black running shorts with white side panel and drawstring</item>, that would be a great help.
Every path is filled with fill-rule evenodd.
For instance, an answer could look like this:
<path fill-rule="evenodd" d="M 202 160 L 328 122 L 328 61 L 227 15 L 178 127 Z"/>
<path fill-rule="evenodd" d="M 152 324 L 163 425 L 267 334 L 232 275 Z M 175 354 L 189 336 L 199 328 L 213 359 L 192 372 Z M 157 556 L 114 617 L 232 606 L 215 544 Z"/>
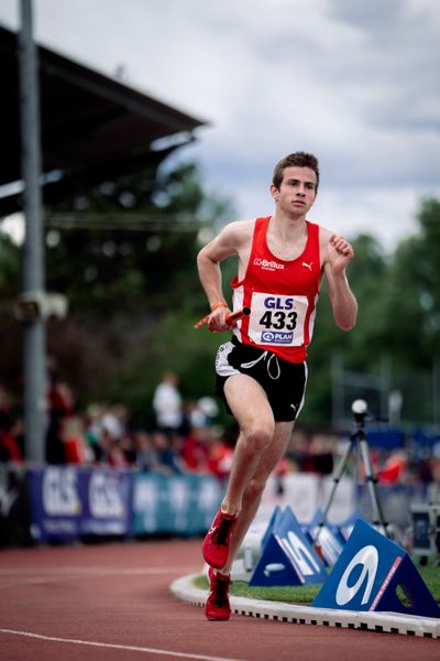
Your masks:
<path fill-rule="evenodd" d="M 296 420 L 302 409 L 307 364 L 289 362 L 275 354 L 240 343 L 235 337 L 219 347 L 216 357 L 216 394 L 231 410 L 224 397 L 224 383 L 232 375 L 248 375 L 262 386 L 277 422 Z M 232 413 L 231 413 L 232 414 Z"/>

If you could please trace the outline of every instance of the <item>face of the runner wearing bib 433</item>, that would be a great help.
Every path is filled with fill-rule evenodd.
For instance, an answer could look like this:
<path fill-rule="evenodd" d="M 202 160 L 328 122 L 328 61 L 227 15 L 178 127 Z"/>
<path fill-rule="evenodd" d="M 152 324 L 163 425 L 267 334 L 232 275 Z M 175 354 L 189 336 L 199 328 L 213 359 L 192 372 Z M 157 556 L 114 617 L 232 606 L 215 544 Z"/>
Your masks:
<path fill-rule="evenodd" d="M 279 189 L 272 185 L 272 195 L 279 208 L 305 215 L 316 199 L 317 176 L 310 167 L 286 167 Z"/>

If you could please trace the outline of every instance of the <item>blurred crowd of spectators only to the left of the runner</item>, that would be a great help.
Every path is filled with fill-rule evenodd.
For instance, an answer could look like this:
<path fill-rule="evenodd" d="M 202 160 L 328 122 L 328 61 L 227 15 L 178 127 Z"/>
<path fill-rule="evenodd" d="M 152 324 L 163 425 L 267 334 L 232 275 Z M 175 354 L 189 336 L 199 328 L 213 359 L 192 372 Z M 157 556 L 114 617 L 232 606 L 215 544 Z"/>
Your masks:
<path fill-rule="evenodd" d="M 123 403 L 92 403 L 78 411 L 69 384 L 50 373 L 46 395 L 45 459 L 48 464 L 108 465 L 165 475 L 229 475 L 234 432 L 213 424 L 217 403 L 206 397 L 185 401 L 178 378 L 166 372 L 142 423 Z M 0 383 L 0 463 L 24 462 L 21 412 Z"/>

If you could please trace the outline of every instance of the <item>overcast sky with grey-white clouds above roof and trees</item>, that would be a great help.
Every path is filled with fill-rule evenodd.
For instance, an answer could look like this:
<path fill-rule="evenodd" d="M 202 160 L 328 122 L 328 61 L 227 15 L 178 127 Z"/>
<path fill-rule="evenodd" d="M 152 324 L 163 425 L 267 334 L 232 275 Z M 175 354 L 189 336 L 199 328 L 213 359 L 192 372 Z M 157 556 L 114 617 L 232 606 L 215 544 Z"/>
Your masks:
<path fill-rule="evenodd" d="M 0 22 L 19 24 L 20 0 Z M 210 126 L 182 156 L 234 219 L 270 214 L 275 163 L 312 151 L 310 219 L 387 250 L 440 196 L 439 0 L 34 0 L 36 40 Z"/>

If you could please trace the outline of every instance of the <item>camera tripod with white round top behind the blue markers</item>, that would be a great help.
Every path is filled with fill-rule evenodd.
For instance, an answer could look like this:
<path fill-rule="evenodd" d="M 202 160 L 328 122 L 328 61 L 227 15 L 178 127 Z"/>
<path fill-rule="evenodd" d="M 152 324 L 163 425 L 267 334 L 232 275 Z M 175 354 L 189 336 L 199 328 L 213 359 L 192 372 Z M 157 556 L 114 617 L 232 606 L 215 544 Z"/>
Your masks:
<path fill-rule="evenodd" d="M 329 513 L 331 503 L 334 498 L 336 490 L 337 490 L 338 485 L 341 480 L 341 477 L 345 470 L 350 455 L 354 451 L 358 451 L 358 453 L 359 453 L 358 456 L 363 462 L 364 469 L 365 469 L 365 483 L 366 483 L 366 486 L 369 489 L 372 508 L 373 508 L 372 523 L 373 523 L 374 528 L 376 528 L 376 530 L 378 530 L 378 532 L 382 532 L 385 537 L 389 537 L 388 532 L 387 532 L 387 523 L 385 523 L 384 512 L 383 512 L 383 509 L 382 509 L 382 506 L 381 506 L 381 502 L 380 502 L 380 499 L 377 496 L 377 491 L 376 491 L 377 479 L 373 473 L 373 466 L 372 466 L 372 462 L 371 462 L 371 457 L 370 457 L 369 444 L 366 442 L 365 418 L 369 414 L 366 402 L 364 400 L 355 400 L 352 404 L 352 412 L 353 412 L 353 419 L 354 419 L 353 432 L 350 437 L 350 444 L 348 445 L 348 447 L 341 458 L 341 462 L 338 465 L 337 469 L 334 470 L 334 474 L 332 477 L 333 485 L 332 485 L 332 488 L 330 491 L 328 502 L 323 510 L 321 521 L 318 524 L 318 532 L 317 532 L 317 535 L 316 535 L 315 542 L 314 542 L 316 548 L 319 548 L 319 535 L 322 531 L 322 528 L 326 524 L 327 514 Z"/>

